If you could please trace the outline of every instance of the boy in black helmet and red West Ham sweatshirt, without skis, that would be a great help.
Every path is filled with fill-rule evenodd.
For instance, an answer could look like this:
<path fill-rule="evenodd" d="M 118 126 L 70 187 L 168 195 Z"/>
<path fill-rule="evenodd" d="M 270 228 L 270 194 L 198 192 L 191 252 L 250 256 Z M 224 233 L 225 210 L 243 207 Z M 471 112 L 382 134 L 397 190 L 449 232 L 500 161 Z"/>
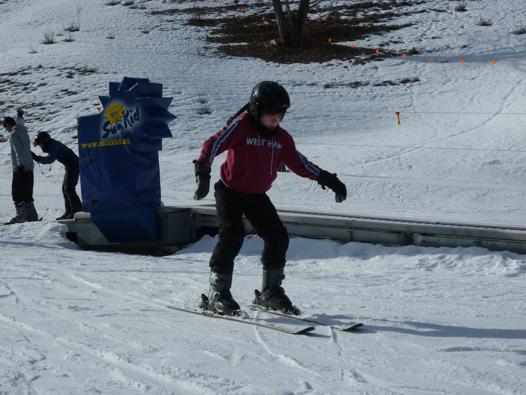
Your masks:
<path fill-rule="evenodd" d="M 292 136 L 279 126 L 289 107 L 289 95 L 280 84 L 272 81 L 257 84 L 250 102 L 235 115 L 237 118 L 233 122 L 230 118 L 227 126 L 211 136 L 203 144 L 199 159 L 194 161 L 197 182 L 194 199 L 200 200 L 208 194 L 214 158 L 228 151 L 221 165 L 220 180 L 214 185 L 219 240 L 210 258 L 208 300 L 203 298 L 203 307 L 209 311 L 236 315 L 240 309 L 230 287 L 234 259 L 245 237 L 242 222 L 245 214 L 264 240 L 261 307 L 299 314 L 281 288 L 289 245 L 287 229 L 266 194 L 281 163 L 296 174 L 317 181 L 323 189 L 329 187 L 336 193 L 336 202 L 341 203 L 347 197 L 346 186 L 336 174 L 308 161 L 296 150 Z M 248 112 L 242 113 L 247 108 Z M 258 295 L 255 302 L 259 303 Z"/>

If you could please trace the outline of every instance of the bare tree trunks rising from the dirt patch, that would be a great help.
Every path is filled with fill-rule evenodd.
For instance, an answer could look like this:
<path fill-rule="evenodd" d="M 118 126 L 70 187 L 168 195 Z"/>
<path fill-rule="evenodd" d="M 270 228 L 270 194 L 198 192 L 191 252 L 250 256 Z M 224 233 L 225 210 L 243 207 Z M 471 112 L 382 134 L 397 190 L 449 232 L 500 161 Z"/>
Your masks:
<path fill-rule="evenodd" d="M 279 38 L 285 45 L 300 47 L 305 37 L 307 28 L 307 14 L 309 9 L 320 4 L 322 0 L 299 0 L 298 9 L 295 12 L 290 10 L 289 0 L 285 0 L 287 9 L 288 24 L 283 11 L 282 0 L 272 0 L 276 19 L 278 21 Z"/>

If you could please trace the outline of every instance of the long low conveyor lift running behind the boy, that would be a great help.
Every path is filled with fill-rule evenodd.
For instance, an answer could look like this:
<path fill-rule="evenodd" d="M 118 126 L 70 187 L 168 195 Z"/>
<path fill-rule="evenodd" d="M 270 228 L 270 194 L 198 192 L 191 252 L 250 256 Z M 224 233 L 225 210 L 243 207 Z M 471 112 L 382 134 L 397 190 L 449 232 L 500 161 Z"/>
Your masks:
<path fill-rule="evenodd" d="M 478 246 L 490 251 L 526 254 L 526 227 L 504 228 L 489 224 L 416 221 L 354 214 L 277 209 L 289 235 L 328 239 L 340 243 L 364 242 L 387 246 L 426 247 Z M 145 242 L 109 242 L 90 219 L 79 212 L 74 220 L 59 221 L 68 226 L 66 237 L 82 250 L 120 251 L 165 255 L 194 243 L 204 234 L 218 233 L 215 205 L 157 207 L 157 240 Z M 245 233 L 255 234 L 244 218 Z"/>

